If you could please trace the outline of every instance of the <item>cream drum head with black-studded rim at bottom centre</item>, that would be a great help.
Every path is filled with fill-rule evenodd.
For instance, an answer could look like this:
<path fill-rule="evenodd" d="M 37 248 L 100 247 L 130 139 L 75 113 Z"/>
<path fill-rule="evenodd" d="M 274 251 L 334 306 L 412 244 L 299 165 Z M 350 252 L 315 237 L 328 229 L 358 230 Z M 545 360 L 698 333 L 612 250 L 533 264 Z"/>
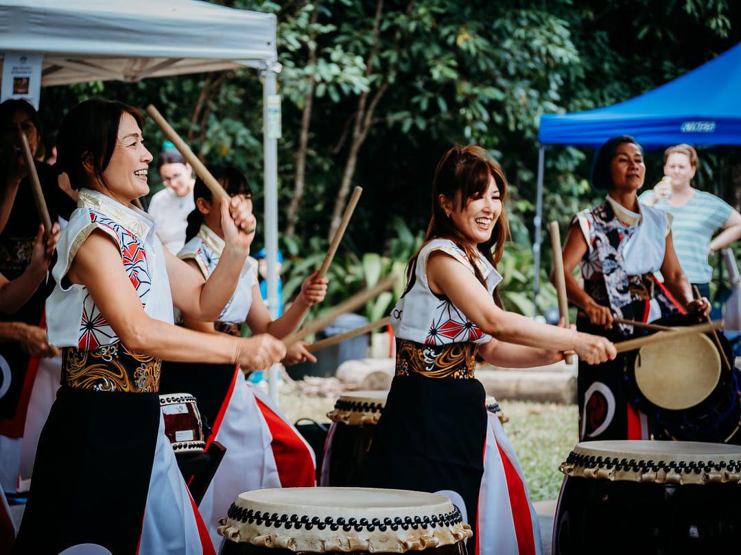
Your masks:
<path fill-rule="evenodd" d="M 219 534 L 291 551 L 405 553 L 471 537 L 451 500 L 420 491 L 274 488 L 240 494 Z"/>

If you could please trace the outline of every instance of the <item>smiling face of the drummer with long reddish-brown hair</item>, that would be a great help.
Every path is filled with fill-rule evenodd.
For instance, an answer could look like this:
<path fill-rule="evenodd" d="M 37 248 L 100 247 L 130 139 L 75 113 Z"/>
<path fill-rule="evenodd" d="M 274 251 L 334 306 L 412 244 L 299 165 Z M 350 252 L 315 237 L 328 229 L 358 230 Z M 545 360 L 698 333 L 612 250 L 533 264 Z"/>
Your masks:
<path fill-rule="evenodd" d="M 462 202 L 461 193 L 458 192 L 454 206 L 447 206 L 453 225 L 474 245 L 485 243 L 491 239 L 494 223 L 502 214 L 502 198 L 494 178 L 489 178 L 480 197 L 467 200 L 468 204 L 462 206 L 465 201 Z"/>

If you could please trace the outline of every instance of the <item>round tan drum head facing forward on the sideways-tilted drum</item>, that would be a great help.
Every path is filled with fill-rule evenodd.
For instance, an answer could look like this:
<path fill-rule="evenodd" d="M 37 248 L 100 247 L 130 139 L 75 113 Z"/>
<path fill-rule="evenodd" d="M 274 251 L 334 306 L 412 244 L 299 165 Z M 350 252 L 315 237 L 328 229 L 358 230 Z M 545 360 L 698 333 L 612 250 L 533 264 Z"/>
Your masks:
<path fill-rule="evenodd" d="M 720 379 L 720 354 L 702 334 L 682 335 L 641 347 L 636 383 L 646 399 L 679 411 L 702 403 Z"/>

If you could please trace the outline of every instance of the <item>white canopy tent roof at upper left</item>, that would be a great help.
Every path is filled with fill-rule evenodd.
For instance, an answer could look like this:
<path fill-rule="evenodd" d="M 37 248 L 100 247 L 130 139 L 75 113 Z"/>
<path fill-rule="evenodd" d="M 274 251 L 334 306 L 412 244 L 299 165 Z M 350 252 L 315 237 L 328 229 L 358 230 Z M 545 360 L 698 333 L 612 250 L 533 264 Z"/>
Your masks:
<path fill-rule="evenodd" d="M 43 53 L 43 86 L 277 64 L 276 17 L 196 0 L 0 0 L 0 53 Z"/>

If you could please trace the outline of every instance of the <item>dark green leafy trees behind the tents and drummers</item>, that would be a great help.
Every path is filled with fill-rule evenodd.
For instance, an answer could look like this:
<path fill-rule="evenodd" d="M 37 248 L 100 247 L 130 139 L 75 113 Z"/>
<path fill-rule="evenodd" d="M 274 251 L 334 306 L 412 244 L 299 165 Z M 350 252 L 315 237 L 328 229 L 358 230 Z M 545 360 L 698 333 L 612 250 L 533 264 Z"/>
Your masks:
<path fill-rule="evenodd" d="M 502 163 L 510 181 L 508 212 L 519 246 L 509 249 L 503 264 L 510 306 L 523 312 L 526 297 L 517 295 L 528 292 L 531 279 L 540 115 L 623 101 L 741 40 L 741 7 L 732 0 L 219 4 L 278 17 L 284 68 L 280 229 L 290 230 L 283 246 L 293 259 L 325 247 L 333 209 L 343 205 L 338 192 L 351 185 L 365 192 L 343 249 L 349 246 L 348 256 L 360 266 L 361 253 L 391 255 L 399 222 L 413 236 L 426 227 L 431 178 L 442 152 L 476 142 Z M 245 69 L 133 85 L 53 87 L 44 90 L 42 111 L 53 127 L 68 107 L 90 95 L 139 107 L 153 102 L 208 164 L 233 164 L 245 172 L 259 207 L 259 80 Z M 153 152 L 159 151 L 159 131 L 147 123 L 144 132 Z M 569 147 L 549 151 L 544 216 L 558 219 L 562 229 L 594 201 L 586 181 L 590 159 L 591 152 Z M 649 155 L 648 163 L 651 181 L 659 160 Z M 715 175 L 710 161 L 700 186 L 711 188 Z"/>

